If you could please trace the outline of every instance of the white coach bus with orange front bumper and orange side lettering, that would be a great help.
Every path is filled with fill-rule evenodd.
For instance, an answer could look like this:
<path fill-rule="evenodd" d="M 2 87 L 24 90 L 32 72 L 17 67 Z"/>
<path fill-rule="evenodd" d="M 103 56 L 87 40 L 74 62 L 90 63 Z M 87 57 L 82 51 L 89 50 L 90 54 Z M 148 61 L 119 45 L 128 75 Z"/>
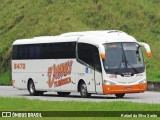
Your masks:
<path fill-rule="evenodd" d="M 146 91 L 141 46 L 148 44 L 122 31 L 70 32 L 16 40 L 12 52 L 12 85 L 30 95 L 54 91 L 60 96 L 80 92 L 115 94 Z"/>

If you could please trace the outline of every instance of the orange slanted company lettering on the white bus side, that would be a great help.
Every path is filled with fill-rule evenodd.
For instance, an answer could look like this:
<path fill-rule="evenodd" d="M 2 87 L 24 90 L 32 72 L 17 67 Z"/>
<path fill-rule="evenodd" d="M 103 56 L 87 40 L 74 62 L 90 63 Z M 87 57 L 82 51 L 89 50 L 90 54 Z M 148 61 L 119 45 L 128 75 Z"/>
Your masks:
<path fill-rule="evenodd" d="M 62 86 L 71 83 L 71 77 L 66 77 L 71 74 L 73 61 L 67 61 L 65 63 L 56 65 L 53 64 L 52 67 L 48 68 L 48 86 L 51 88 Z M 66 77 L 63 78 L 62 77 Z"/>

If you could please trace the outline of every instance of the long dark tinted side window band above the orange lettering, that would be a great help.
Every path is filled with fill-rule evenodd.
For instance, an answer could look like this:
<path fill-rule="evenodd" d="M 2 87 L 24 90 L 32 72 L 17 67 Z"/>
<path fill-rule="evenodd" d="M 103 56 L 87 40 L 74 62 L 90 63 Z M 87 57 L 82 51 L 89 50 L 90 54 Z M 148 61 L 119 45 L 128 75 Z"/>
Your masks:
<path fill-rule="evenodd" d="M 14 45 L 12 59 L 75 58 L 75 42 Z"/>

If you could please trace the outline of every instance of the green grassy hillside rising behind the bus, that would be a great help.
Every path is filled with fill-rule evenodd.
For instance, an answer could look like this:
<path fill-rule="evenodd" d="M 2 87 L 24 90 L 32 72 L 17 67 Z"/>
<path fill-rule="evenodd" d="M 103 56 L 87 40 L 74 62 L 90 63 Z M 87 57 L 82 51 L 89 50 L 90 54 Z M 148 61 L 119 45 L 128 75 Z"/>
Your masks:
<path fill-rule="evenodd" d="M 147 77 L 159 81 L 159 6 L 159 0 L 1 0 L 0 83 L 10 84 L 6 79 L 11 80 L 11 46 L 16 39 L 109 29 L 150 44 L 153 57 L 146 59 Z"/>

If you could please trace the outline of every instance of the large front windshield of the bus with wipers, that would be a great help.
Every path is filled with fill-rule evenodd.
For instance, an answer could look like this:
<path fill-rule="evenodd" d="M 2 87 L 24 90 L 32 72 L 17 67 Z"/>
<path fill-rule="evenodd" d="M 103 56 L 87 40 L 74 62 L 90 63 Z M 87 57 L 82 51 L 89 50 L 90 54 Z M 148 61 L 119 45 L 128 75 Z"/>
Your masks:
<path fill-rule="evenodd" d="M 145 70 L 143 54 L 137 43 L 107 43 L 104 68 L 108 74 L 142 73 Z"/>

